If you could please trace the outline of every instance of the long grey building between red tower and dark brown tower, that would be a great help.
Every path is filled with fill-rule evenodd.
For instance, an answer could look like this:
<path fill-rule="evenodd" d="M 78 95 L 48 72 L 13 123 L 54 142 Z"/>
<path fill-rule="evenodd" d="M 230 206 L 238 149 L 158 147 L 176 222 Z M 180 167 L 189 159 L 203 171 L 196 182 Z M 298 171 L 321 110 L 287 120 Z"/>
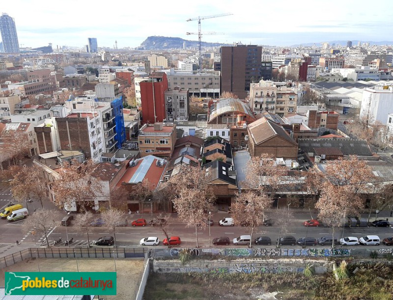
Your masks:
<path fill-rule="evenodd" d="M 215 73 L 176 72 L 170 69 L 168 87 L 176 86 L 188 89 L 190 95 L 195 97 L 220 97 L 220 75 Z"/>

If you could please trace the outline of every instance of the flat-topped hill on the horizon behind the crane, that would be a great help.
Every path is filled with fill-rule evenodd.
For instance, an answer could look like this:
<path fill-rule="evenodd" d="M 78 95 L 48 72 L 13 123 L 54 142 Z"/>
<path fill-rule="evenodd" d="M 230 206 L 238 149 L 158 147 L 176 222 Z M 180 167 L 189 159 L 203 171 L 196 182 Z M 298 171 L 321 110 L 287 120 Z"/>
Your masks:
<path fill-rule="evenodd" d="M 164 50 L 164 49 L 183 49 L 183 43 L 186 43 L 186 48 L 198 48 L 198 41 L 184 40 L 180 37 L 168 36 L 149 36 L 140 44 L 140 49 L 144 50 Z M 206 43 L 202 42 L 202 47 L 220 47 L 228 46 L 220 43 Z"/>

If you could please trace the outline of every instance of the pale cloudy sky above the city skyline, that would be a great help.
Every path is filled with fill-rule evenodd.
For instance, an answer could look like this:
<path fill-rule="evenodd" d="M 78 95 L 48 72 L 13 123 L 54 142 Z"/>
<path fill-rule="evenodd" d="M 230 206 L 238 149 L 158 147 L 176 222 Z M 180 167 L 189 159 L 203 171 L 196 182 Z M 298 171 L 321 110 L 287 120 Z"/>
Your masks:
<path fill-rule="evenodd" d="M 393 40 L 392 0 L 13 0 L 1 12 L 15 19 L 21 47 L 84 47 L 96 37 L 98 47 L 138 47 L 148 36 L 202 41 L 290 46 L 333 40 Z M 373 7 L 373 3 L 375 7 Z"/>

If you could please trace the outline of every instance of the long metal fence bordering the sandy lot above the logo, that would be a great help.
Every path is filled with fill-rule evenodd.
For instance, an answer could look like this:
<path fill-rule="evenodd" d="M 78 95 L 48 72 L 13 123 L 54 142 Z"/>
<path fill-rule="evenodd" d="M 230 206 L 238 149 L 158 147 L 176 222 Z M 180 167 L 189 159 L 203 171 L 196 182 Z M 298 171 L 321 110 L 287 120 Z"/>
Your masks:
<path fill-rule="evenodd" d="M 28 258 L 130 258 L 145 257 L 147 248 L 28 248 L 0 258 L 0 269 Z"/>

